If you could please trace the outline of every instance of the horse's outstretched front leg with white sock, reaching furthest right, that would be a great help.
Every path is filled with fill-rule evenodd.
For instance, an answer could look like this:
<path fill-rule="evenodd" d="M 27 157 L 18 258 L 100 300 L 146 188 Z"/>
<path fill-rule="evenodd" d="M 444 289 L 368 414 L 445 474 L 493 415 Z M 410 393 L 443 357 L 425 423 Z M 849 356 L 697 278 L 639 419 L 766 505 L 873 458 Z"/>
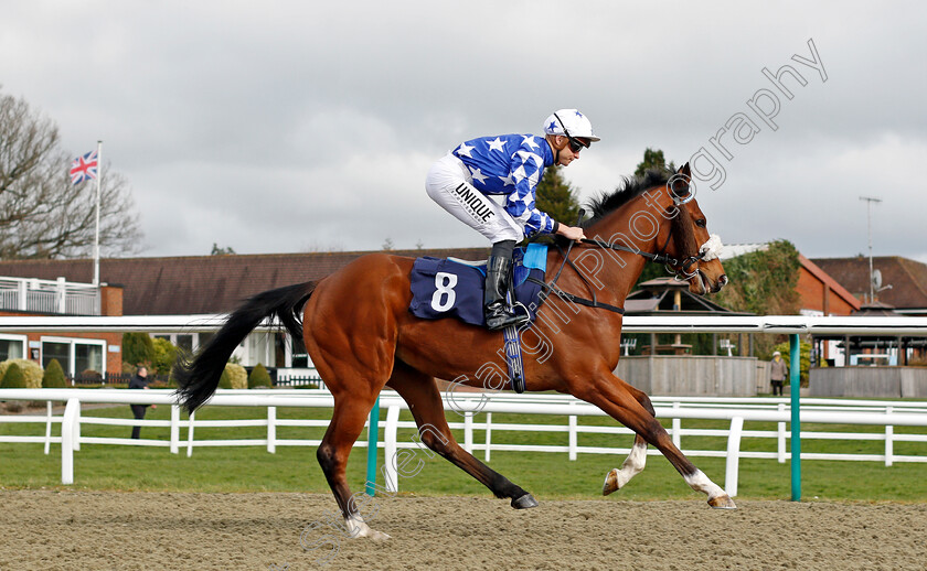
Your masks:
<path fill-rule="evenodd" d="M 708 496 L 710 506 L 724 509 L 736 508 L 737 506 L 731 499 L 731 496 L 695 467 L 685 457 L 685 454 L 673 444 L 663 425 L 633 397 L 635 390 L 637 389 L 607 371 L 599 374 L 593 383 L 588 384 L 586 390 L 578 391 L 578 394 L 574 392 L 574 395 L 596 405 L 615 420 L 633 430 L 646 442 L 653 444 L 676 468 L 692 489 Z M 635 443 L 637 444 L 637 440 Z M 635 455 L 635 451 L 638 451 L 637 454 L 640 456 L 643 455 L 646 449 L 636 445 L 635 450 L 631 451 L 632 455 Z M 630 472 L 629 470 L 625 474 Z M 606 478 L 606 485 L 607 483 Z"/>

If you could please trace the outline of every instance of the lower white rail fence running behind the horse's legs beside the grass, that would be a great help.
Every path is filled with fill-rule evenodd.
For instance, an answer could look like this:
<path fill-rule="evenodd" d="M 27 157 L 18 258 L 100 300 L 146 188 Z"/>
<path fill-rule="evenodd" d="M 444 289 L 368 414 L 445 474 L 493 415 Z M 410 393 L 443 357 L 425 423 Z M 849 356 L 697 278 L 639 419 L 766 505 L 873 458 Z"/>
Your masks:
<path fill-rule="evenodd" d="M 448 398 L 449 397 L 449 398 Z M 326 408 L 332 407 L 331 394 L 326 390 L 220 390 L 210 401 L 212 406 L 260 407 L 267 409 L 265 418 L 241 420 L 196 420 L 192 414 L 181 419 L 180 408 L 173 402 L 171 390 L 119 390 L 119 389 L 0 389 L 0 400 L 45 400 L 44 416 L 0 416 L 0 422 L 44 424 L 44 435 L 0 435 L 0 442 L 43 443 L 45 453 L 50 453 L 52 443 L 60 443 L 62 453 L 62 483 L 74 482 L 74 452 L 81 444 L 117 444 L 169 448 L 171 453 L 187 449 L 187 455 L 193 454 L 196 446 L 266 446 L 269 453 L 277 446 L 317 446 L 319 440 L 279 439 L 278 427 L 321 427 L 328 425 L 323 419 L 278 419 L 278 407 Z M 64 413 L 54 416 L 52 402 L 66 402 Z M 670 433 L 673 442 L 690 456 L 713 456 L 726 459 L 725 489 L 732 496 L 737 495 L 739 460 L 769 459 L 780 463 L 789 460 L 786 441 L 790 438 L 786 423 L 791 411 L 787 399 L 758 398 L 710 398 L 710 397 L 653 397 L 657 417 L 670 419 Z M 124 405 L 163 405 L 171 407 L 170 420 L 135 420 L 126 418 L 87 417 L 81 414 L 82 403 L 124 403 Z M 605 417 L 598 408 L 560 395 L 512 395 L 512 394 L 452 394 L 445 395 L 445 410 L 451 429 L 464 431 L 462 445 L 469 452 L 482 451 L 487 462 L 492 451 L 548 452 L 566 453 L 569 460 L 578 454 L 616 454 L 630 452 L 630 448 L 580 445 L 580 434 L 631 434 L 618 425 L 586 425 L 578 422 L 578 417 Z M 399 421 L 399 412 L 407 410 L 405 401 L 393 391 L 381 395 L 381 408 L 386 409 L 385 420 L 379 428 L 384 430 L 384 439 L 379 444 L 385 450 L 386 462 L 382 467 L 388 491 L 398 489 L 396 454 L 399 449 L 415 449 L 417 440 L 399 441 L 398 429 L 415 429 L 412 421 Z M 477 421 L 484 413 L 484 420 Z M 551 424 L 539 420 L 537 423 L 493 422 L 493 413 L 519 413 L 543 418 L 544 416 L 565 416 L 566 424 Z M 457 419 L 457 421 L 455 421 Z M 710 419 L 726 420 L 727 429 L 682 428 L 683 420 Z M 828 440 L 876 440 L 884 441 L 884 454 L 816 454 L 802 453 L 808 460 L 875 461 L 891 466 L 894 462 L 927 462 L 925 455 L 898 455 L 894 453 L 896 442 L 927 442 L 925 434 L 895 434 L 894 427 L 927 427 L 927 402 L 912 401 L 862 401 L 834 399 L 802 399 L 801 421 L 812 423 L 834 423 L 854 425 L 882 425 L 883 432 L 812 432 L 801 431 L 801 439 Z M 777 430 L 745 430 L 745 422 L 776 422 Z M 52 424 L 61 424 L 61 437 L 52 435 Z M 168 427 L 169 440 L 128 438 L 83 437 L 82 425 L 103 424 L 121 427 Z M 266 438 L 235 440 L 195 440 L 195 428 L 209 427 L 265 427 Z M 187 438 L 181 441 L 181 429 L 187 429 Z M 484 431 L 483 442 L 475 441 L 475 431 Z M 565 432 L 566 445 L 541 444 L 501 444 L 493 443 L 493 434 L 500 431 L 519 432 Z M 692 450 L 685 448 L 682 437 L 720 437 L 727 439 L 723 450 Z M 742 438 L 775 439 L 776 452 L 740 450 Z M 367 442 L 359 440 L 355 446 L 365 448 Z M 659 454 L 652 448 L 649 454 Z"/>

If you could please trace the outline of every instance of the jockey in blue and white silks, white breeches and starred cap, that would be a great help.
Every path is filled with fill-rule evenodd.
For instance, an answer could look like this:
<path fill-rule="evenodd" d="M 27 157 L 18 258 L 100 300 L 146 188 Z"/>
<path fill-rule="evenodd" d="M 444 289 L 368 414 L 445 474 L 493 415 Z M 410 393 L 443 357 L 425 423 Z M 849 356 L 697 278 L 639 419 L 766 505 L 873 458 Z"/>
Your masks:
<path fill-rule="evenodd" d="M 492 243 L 483 298 L 490 330 L 528 319 L 505 304 L 515 243 L 539 234 L 558 234 L 577 241 L 585 238 L 582 228 L 539 211 L 534 191 L 546 166 L 568 165 L 579 158 L 579 151 L 598 140 L 586 116 L 576 109 L 561 109 L 544 121 L 544 138 L 500 134 L 472 139 L 428 171 L 428 196 Z M 499 195 L 501 204 L 489 195 Z"/>

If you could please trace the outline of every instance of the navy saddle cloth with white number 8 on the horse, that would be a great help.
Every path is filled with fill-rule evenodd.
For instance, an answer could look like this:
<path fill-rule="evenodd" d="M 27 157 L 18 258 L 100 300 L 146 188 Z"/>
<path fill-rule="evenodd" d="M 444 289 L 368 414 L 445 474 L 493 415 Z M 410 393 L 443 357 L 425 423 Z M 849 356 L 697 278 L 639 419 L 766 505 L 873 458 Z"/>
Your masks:
<path fill-rule="evenodd" d="M 534 321 L 537 295 L 541 286 L 528 281 L 531 276 L 544 281 L 547 262 L 547 246 L 529 244 L 528 248 L 515 248 L 512 256 L 514 267 L 515 301 L 522 303 Z M 409 274 L 412 302 L 408 310 L 416 317 L 439 320 L 457 317 L 464 323 L 486 326 L 483 315 L 483 290 L 486 289 L 486 262 L 470 266 L 425 256 L 416 258 Z M 515 311 L 521 311 L 516 309 Z"/>

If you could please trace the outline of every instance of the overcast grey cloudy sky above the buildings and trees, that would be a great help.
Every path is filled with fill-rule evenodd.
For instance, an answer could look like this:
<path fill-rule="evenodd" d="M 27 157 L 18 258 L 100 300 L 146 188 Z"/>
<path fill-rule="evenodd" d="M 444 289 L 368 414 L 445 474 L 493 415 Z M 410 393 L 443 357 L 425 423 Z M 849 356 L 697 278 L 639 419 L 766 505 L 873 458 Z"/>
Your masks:
<path fill-rule="evenodd" d="M 601 137 L 564 171 L 583 200 L 647 147 L 704 148 L 725 243 L 864 254 L 874 196 L 874 254 L 927 262 L 925 30 L 917 1 L 22 0 L 0 84 L 75 155 L 104 141 L 145 256 L 483 246 L 425 194 L 429 165 L 576 107 Z M 763 73 L 784 65 L 791 99 Z"/>

